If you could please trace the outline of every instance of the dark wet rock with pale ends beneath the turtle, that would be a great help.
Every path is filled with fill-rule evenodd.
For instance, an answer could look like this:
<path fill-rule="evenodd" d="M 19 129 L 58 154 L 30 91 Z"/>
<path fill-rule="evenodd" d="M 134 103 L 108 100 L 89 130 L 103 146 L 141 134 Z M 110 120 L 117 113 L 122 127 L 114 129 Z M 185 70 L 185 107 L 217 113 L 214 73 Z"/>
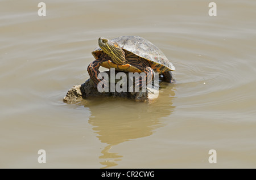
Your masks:
<path fill-rule="evenodd" d="M 110 71 L 105 71 L 109 76 L 110 83 L 117 83 L 120 81 L 119 79 L 110 78 Z M 115 71 L 115 75 L 118 71 Z M 127 72 L 122 72 L 126 74 L 126 82 L 129 82 L 129 74 Z M 127 85 L 126 85 L 127 86 Z M 113 88 L 113 87 L 112 87 Z M 94 84 L 93 80 L 89 78 L 85 83 L 81 85 L 74 85 L 71 89 L 69 89 L 67 95 L 64 97 L 63 101 L 68 104 L 73 104 L 79 101 L 93 99 L 93 98 L 104 98 L 104 97 L 112 97 L 112 98 L 126 98 L 135 101 L 152 101 L 158 97 L 158 89 L 154 88 L 146 88 L 146 92 L 129 92 L 128 87 L 126 87 L 126 92 L 117 92 L 114 89 L 114 92 L 110 92 L 110 87 L 108 87 L 108 91 L 99 92 L 97 86 Z"/>

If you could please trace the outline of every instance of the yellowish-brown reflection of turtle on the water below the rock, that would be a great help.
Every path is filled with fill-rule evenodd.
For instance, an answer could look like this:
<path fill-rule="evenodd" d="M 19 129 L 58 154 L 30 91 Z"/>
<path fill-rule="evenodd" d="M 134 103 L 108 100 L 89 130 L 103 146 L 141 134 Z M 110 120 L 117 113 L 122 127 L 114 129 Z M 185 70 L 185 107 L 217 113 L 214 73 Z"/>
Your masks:
<path fill-rule="evenodd" d="M 174 110 L 172 98 L 174 85 L 161 83 L 158 100 L 148 104 L 131 100 L 91 100 L 89 106 L 92 113 L 89 118 L 90 125 L 98 134 L 97 138 L 106 144 L 101 151 L 104 159 L 100 162 L 104 168 L 118 165 L 122 155 L 110 152 L 113 145 L 150 136 L 156 128 L 164 126 L 163 117 L 169 116 Z"/>

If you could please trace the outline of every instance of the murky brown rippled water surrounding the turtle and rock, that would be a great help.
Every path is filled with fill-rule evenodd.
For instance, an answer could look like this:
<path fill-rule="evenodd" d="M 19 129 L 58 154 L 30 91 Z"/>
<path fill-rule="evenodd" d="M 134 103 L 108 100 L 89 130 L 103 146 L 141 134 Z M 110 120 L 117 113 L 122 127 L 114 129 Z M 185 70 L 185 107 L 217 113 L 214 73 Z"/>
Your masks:
<path fill-rule="evenodd" d="M 39 2 L 0 1 L 0 168 L 256 168 L 255 1 Z M 64 104 L 98 37 L 123 35 L 162 49 L 176 84 Z"/>

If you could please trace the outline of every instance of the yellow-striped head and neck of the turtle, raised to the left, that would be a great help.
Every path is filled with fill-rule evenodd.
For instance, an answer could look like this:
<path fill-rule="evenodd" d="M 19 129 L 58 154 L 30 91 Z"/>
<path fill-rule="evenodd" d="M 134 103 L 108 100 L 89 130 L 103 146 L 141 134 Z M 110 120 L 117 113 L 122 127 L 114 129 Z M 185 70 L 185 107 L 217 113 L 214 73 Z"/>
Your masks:
<path fill-rule="evenodd" d="M 108 40 L 107 38 L 100 37 L 98 38 L 98 45 L 103 50 L 104 53 L 108 54 L 112 58 L 112 61 L 117 65 L 123 65 L 126 63 L 125 52 L 117 44 Z"/>

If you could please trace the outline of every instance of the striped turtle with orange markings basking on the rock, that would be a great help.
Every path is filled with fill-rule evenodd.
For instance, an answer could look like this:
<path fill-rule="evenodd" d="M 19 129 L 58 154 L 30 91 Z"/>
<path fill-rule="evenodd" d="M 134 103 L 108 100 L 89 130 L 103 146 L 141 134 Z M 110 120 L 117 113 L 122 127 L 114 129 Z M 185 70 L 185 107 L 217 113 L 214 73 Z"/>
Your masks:
<path fill-rule="evenodd" d="M 145 72 L 150 80 L 158 72 L 164 82 L 175 81 L 171 72 L 175 71 L 174 65 L 158 47 L 143 37 L 121 36 L 112 40 L 100 37 L 92 55 L 96 60 L 90 63 L 87 70 L 96 85 L 101 82 L 98 78 L 100 66 L 124 72 Z M 139 81 L 141 87 L 142 79 Z"/>

